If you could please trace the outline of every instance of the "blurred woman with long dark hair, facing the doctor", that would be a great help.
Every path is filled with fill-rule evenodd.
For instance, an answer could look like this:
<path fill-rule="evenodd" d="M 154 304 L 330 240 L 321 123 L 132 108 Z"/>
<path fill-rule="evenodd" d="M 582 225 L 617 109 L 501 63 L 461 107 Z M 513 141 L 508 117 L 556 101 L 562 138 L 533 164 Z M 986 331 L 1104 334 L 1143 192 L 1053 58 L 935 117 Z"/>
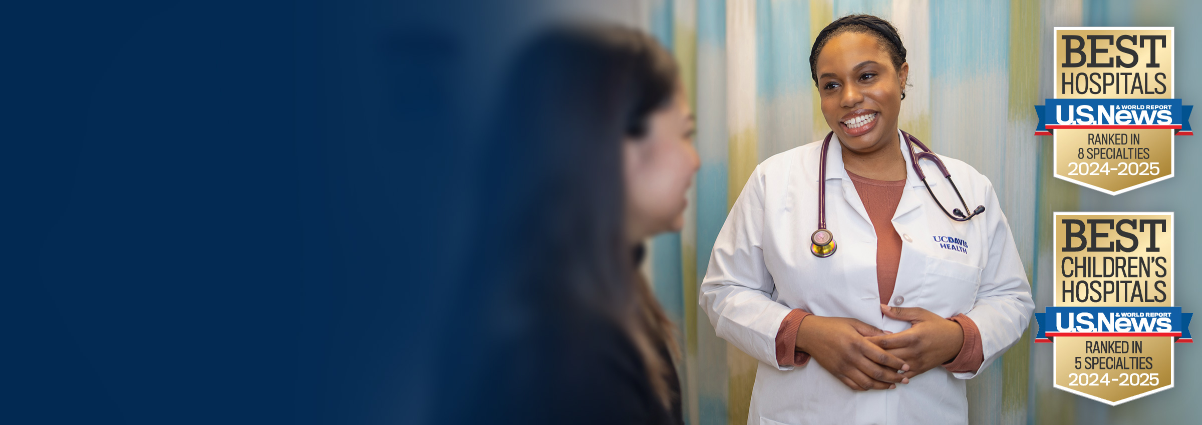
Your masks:
<path fill-rule="evenodd" d="M 672 323 L 637 271 L 700 166 L 677 65 L 635 30 L 559 28 L 510 77 L 451 419 L 682 424 Z"/>

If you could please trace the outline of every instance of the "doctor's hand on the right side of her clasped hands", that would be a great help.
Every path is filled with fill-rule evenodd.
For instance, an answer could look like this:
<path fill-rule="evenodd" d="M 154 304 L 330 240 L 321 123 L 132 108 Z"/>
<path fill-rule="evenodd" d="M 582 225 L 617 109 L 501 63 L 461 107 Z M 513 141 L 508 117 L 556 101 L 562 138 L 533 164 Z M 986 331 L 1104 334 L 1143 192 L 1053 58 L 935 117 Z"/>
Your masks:
<path fill-rule="evenodd" d="M 868 337 L 868 341 L 910 365 L 910 371 L 903 373 L 908 378 L 956 359 L 964 346 L 964 329 L 960 324 L 927 309 L 889 307 L 881 304 L 881 312 L 912 324 L 910 329 L 897 334 Z"/>

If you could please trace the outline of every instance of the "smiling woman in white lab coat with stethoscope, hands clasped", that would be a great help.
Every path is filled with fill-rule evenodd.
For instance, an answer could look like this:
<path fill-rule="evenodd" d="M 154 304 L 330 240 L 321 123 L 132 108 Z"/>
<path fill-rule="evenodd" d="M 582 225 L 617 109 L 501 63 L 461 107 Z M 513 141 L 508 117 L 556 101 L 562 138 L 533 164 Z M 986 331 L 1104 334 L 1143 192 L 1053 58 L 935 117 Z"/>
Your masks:
<path fill-rule="evenodd" d="M 912 169 L 918 151 L 898 128 L 909 64 L 888 22 L 835 20 L 810 67 L 837 143 L 756 167 L 701 286 L 718 336 L 760 360 L 748 424 L 966 423 L 964 379 L 1034 310 L 994 187 L 948 157 L 952 180 L 929 158 L 926 184 Z M 838 239 L 828 257 L 811 253 L 820 184 Z M 945 214 L 960 204 L 984 210 Z"/>

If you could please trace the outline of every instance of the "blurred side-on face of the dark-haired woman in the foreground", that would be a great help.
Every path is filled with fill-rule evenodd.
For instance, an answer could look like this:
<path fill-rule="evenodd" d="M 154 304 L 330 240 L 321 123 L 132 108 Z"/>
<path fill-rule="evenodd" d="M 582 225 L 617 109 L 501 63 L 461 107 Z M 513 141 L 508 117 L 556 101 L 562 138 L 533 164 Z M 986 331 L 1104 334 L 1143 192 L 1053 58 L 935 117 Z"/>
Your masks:
<path fill-rule="evenodd" d="M 692 110 L 683 90 L 653 112 L 648 124 L 645 136 L 623 143 L 631 243 L 684 227 L 685 193 L 701 167 L 692 145 Z"/>

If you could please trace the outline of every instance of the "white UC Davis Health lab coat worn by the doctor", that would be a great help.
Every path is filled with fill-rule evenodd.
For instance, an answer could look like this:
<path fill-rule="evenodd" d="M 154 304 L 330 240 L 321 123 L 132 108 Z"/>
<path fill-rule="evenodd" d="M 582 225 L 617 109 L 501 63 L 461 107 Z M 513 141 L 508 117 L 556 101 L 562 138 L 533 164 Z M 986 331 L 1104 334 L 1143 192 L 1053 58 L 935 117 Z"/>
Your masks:
<path fill-rule="evenodd" d="M 904 154 L 905 143 L 900 146 Z M 952 221 L 940 210 L 910 168 L 910 155 L 903 155 L 906 185 L 892 220 L 902 235 L 902 258 L 888 304 L 972 318 L 984 348 L 981 370 L 952 373 L 935 367 L 897 389 L 852 391 L 816 361 L 776 364 L 776 331 L 792 309 L 852 317 L 894 333 L 910 328 L 881 315 L 876 233 L 834 137 L 822 179 L 827 228 L 838 251 L 827 258 L 810 253 L 821 150 L 822 142 L 814 142 L 756 167 L 718 234 L 701 285 L 701 307 L 718 336 L 760 360 L 748 424 L 966 423 L 963 379 L 980 373 L 1022 336 L 1035 304 L 993 185 L 958 160 L 940 156 L 969 209 L 986 208 L 968 222 Z M 920 164 L 940 202 L 963 209 L 938 167 L 930 161 Z M 951 239 L 942 237 L 963 240 L 966 249 L 950 249 L 942 244 Z"/>

